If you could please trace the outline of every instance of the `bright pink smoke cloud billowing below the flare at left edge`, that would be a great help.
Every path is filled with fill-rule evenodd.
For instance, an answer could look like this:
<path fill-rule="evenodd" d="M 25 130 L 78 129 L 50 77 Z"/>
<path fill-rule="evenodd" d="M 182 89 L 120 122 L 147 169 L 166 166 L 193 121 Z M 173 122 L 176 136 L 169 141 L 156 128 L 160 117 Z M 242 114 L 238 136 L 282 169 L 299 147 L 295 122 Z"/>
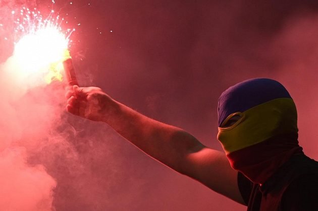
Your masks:
<path fill-rule="evenodd" d="M 15 81 L 14 60 L 0 67 L 0 209 L 52 210 L 56 180 L 43 165 L 30 165 L 28 157 L 46 138 L 56 109 L 38 101 L 43 92 Z"/>

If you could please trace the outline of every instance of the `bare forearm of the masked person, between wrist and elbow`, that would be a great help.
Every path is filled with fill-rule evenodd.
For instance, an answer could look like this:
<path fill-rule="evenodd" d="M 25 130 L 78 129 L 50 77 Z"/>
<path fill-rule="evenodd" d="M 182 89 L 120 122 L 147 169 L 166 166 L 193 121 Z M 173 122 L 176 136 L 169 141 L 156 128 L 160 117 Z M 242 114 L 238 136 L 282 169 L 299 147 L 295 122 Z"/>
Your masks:
<path fill-rule="evenodd" d="M 185 172 L 187 155 L 202 147 L 188 132 L 150 119 L 113 99 L 103 110 L 103 121 L 137 148 L 180 173 Z"/>

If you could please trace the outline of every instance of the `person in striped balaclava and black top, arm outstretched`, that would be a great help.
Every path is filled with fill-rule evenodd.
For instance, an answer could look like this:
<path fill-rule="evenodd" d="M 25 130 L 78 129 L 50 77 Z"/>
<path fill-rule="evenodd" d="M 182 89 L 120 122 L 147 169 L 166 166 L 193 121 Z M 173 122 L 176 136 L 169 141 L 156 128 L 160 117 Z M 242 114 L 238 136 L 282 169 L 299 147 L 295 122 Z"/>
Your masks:
<path fill-rule="evenodd" d="M 252 79 L 222 93 L 218 139 L 226 155 L 99 88 L 73 86 L 66 97 L 70 113 L 109 124 L 152 158 L 248 210 L 318 210 L 318 163 L 299 147 L 296 107 L 277 81 Z"/>

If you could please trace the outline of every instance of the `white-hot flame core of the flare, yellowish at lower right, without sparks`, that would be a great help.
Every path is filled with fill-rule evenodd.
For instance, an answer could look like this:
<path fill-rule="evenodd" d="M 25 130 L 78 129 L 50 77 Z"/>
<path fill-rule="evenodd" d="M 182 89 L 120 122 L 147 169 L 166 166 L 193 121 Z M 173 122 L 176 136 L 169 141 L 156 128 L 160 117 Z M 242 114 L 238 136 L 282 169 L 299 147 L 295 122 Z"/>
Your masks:
<path fill-rule="evenodd" d="M 46 26 L 22 37 L 15 45 L 21 74 L 42 75 L 47 84 L 62 81 L 63 61 L 70 57 L 68 39 L 55 26 Z"/>

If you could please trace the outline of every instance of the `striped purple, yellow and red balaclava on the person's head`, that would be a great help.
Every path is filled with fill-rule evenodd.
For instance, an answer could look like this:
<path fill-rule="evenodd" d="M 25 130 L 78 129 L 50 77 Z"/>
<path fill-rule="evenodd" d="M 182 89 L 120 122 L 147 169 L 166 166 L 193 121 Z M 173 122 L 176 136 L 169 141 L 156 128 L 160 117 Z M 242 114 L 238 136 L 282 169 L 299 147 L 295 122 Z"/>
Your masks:
<path fill-rule="evenodd" d="M 262 184 L 295 154 L 297 111 L 279 82 L 251 79 L 230 87 L 219 98 L 218 140 L 232 168 Z M 238 120 L 225 127 L 235 116 Z"/>

